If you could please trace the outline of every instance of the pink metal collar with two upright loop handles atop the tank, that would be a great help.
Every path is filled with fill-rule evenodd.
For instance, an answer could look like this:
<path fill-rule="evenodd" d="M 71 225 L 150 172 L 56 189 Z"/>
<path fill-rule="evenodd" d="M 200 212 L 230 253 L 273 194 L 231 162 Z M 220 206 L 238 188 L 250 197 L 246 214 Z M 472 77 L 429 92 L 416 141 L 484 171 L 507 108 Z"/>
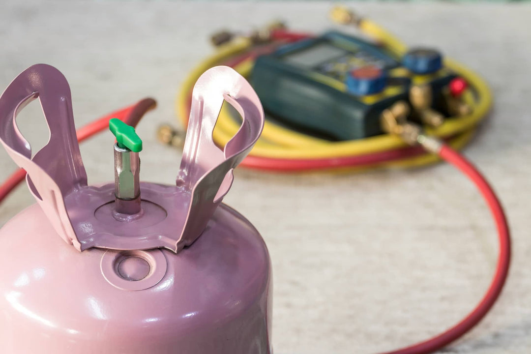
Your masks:
<path fill-rule="evenodd" d="M 16 126 L 16 115 L 38 98 L 50 129 L 50 140 L 35 156 Z M 212 140 L 224 101 L 242 115 L 239 131 L 220 150 Z M 75 139 L 70 88 L 54 67 L 37 64 L 22 72 L 0 97 L 0 142 L 19 167 L 37 202 L 58 234 L 83 251 L 90 247 L 149 249 L 174 252 L 190 245 L 227 194 L 233 169 L 251 151 L 264 124 L 263 109 L 251 85 L 232 68 L 211 68 L 198 79 L 177 185 L 164 191 L 142 190 L 144 227 L 120 220 L 99 219 L 98 208 L 114 201 L 113 191 L 87 186 L 87 175 Z M 145 187 L 144 187 L 145 188 Z M 169 217 L 148 210 L 158 205 Z M 183 212 L 183 209 L 186 211 Z M 145 225 L 151 224 L 148 228 Z"/>

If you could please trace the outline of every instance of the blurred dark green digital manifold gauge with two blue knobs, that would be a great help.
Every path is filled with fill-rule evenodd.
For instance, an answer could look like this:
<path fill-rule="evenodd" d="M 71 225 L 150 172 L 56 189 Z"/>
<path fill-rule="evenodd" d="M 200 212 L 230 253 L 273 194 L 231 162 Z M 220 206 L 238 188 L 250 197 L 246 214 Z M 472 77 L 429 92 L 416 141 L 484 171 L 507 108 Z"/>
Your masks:
<path fill-rule="evenodd" d="M 382 111 L 410 101 L 412 85 L 430 88 L 431 108 L 448 115 L 444 88 L 455 77 L 436 50 L 398 56 L 363 39 L 327 32 L 258 57 L 251 82 L 273 120 L 331 140 L 354 140 L 382 134 Z M 437 126 L 438 117 L 416 119 Z"/>

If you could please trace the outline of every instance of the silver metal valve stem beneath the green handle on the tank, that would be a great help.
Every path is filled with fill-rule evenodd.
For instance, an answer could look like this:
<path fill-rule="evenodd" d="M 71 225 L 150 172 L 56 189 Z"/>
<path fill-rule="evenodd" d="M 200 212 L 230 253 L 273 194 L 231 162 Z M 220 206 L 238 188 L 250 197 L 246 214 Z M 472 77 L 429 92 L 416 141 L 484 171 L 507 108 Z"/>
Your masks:
<path fill-rule="evenodd" d="M 114 144 L 114 194 L 116 212 L 140 212 L 140 157 L 138 152 Z"/>

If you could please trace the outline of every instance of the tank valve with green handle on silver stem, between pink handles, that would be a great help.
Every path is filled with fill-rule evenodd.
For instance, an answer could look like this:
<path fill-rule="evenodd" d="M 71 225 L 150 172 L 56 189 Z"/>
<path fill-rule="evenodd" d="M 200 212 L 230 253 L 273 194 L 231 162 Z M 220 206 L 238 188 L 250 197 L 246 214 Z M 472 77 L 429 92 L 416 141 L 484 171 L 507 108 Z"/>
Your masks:
<path fill-rule="evenodd" d="M 142 140 L 132 126 L 113 118 L 109 129 L 116 136 L 114 144 L 114 195 L 116 212 L 138 214 L 140 208 L 140 157 Z"/>

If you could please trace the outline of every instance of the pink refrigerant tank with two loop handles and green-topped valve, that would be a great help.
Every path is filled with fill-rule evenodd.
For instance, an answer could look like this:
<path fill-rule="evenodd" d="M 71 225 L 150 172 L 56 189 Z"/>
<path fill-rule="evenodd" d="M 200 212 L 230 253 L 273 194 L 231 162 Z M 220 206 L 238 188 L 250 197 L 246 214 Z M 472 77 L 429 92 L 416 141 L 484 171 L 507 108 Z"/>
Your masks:
<path fill-rule="evenodd" d="M 36 98 L 50 139 L 32 157 L 15 117 Z M 243 123 L 221 150 L 224 101 Z M 136 136 L 117 125 L 115 182 L 89 186 L 65 77 L 43 64 L 17 76 L 0 98 L 0 140 L 37 204 L 0 230 L 0 352 L 271 353 L 267 248 L 221 204 L 263 119 L 249 83 L 212 68 L 193 90 L 176 184 L 140 183 Z"/>

